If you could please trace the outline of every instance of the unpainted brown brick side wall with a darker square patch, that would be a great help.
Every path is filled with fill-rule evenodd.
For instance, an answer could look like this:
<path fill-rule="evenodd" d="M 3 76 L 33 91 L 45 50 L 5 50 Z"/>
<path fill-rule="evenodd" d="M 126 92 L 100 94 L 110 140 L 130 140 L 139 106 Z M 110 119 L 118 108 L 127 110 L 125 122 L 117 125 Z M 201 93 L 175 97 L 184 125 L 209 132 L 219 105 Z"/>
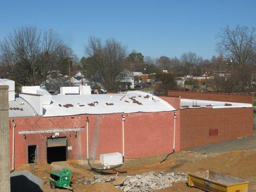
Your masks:
<path fill-rule="evenodd" d="M 186 108 L 180 112 L 181 149 L 253 135 L 253 108 Z"/>

